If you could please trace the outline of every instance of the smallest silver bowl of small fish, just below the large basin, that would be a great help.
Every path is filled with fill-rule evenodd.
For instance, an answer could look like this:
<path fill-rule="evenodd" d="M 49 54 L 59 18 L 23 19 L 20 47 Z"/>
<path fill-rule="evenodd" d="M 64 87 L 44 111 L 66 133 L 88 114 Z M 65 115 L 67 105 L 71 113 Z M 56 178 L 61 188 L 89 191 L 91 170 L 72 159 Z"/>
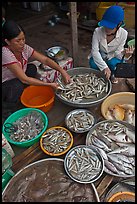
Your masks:
<path fill-rule="evenodd" d="M 75 109 L 65 117 L 67 128 L 75 133 L 84 133 L 95 124 L 93 113 L 87 109 Z"/>

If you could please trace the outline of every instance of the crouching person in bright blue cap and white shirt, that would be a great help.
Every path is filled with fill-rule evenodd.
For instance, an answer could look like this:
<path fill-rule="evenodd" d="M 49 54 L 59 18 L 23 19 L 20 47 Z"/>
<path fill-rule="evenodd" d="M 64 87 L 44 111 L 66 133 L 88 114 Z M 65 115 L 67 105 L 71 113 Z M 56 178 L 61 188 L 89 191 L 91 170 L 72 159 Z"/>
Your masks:
<path fill-rule="evenodd" d="M 124 48 L 128 32 L 124 25 L 124 10 L 118 5 L 109 7 L 98 23 L 92 37 L 91 53 L 88 56 L 91 68 L 104 72 L 112 83 L 118 83 L 114 71 L 118 63 L 126 63 L 134 47 Z"/>

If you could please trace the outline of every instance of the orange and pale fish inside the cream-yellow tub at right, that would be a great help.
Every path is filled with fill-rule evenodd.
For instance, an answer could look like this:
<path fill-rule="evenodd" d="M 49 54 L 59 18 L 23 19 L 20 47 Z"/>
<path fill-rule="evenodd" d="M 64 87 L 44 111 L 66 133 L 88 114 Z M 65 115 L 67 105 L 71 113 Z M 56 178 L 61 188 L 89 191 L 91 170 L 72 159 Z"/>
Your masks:
<path fill-rule="evenodd" d="M 124 120 L 135 126 L 135 105 L 115 104 L 108 108 L 106 117 L 110 120 Z"/>

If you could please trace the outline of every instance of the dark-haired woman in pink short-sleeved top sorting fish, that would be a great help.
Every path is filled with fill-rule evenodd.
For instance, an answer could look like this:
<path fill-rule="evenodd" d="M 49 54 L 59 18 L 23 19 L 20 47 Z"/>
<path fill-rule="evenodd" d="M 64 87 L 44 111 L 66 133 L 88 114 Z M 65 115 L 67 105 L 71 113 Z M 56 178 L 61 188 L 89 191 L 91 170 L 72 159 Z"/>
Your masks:
<path fill-rule="evenodd" d="M 51 86 L 58 89 L 57 83 L 46 83 L 35 78 L 37 67 L 28 60 L 37 60 L 59 71 L 65 81 L 70 82 L 68 73 L 49 57 L 39 53 L 25 42 L 25 32 L 16 22 L 6 21 L 2 28 L 2 102 L 19 101 L 26 85 Z"/>

